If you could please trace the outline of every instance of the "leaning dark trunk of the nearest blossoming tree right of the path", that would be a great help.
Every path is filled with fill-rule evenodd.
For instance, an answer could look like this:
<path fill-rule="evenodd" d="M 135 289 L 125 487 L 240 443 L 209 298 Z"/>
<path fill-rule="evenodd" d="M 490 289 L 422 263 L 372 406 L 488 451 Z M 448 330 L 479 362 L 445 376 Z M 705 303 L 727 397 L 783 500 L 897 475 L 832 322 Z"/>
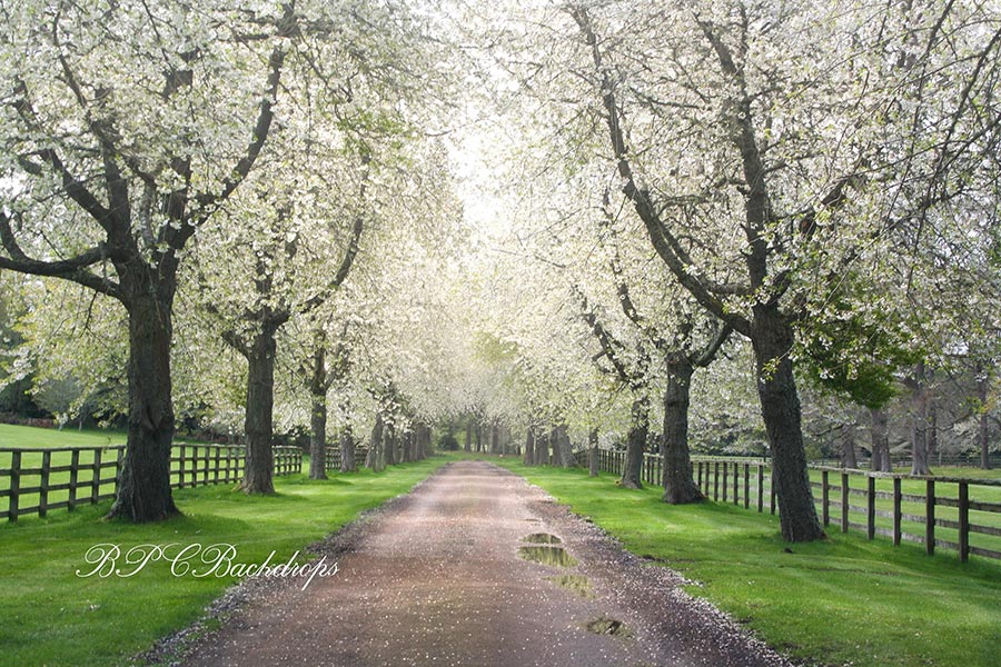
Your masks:
<path fill-rule="evenodd" d="M 782 537 L 787 541 L 812 541 L 824 537 L 824 530 L 813 505 L 800 397 L 789 358 L 794 334 L 776 306 L 759 305 L 754 311 L 751 342 L 761 415 L 772 452 L 772 484 L 779 500 Z"/>

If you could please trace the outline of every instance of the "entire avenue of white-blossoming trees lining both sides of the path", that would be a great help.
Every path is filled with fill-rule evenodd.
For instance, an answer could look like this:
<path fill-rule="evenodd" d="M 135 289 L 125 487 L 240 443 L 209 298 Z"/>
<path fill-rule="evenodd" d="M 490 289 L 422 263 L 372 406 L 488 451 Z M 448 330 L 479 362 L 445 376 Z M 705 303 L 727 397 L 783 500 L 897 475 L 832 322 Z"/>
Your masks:
<path fill-rule="evenodd" d="M 625 486 L 655 439 L 671 502 L 692 442 L 763 442 L 790 540 L 830 434 L 886 466 L 905 407 L 915 472 L 948 420 L 987 452 L 990 4 L 425 9 L 3 7 L 0 269 L 43 277 L 4 272 L 12 367 L 128 369 L 112 515 L 176 510 L 176 401 L 251 492 L 272 415 L 315 476 L 328 419 L 375 467 L 460 415 L 529 462 L 622 441 Z"/>

